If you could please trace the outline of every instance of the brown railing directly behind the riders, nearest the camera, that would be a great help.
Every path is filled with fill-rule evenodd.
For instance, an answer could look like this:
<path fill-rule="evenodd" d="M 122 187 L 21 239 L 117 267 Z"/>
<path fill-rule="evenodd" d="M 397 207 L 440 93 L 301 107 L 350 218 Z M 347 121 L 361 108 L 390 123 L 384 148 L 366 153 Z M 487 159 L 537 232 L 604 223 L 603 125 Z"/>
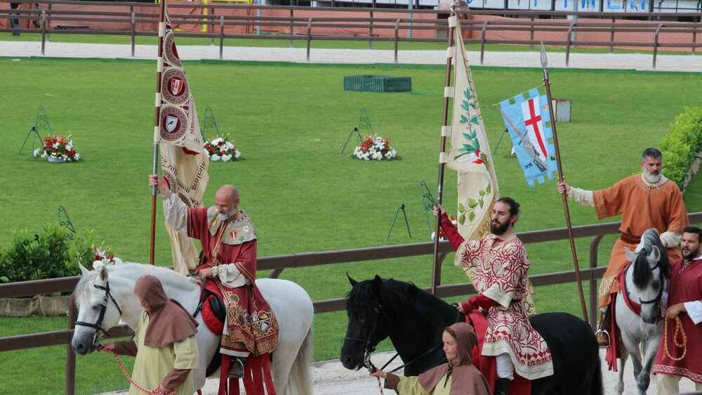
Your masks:
<path fill-rule="evenodd" d="M 702 212 L 689 214 L 691 224 L 702 222 Z M 581 270 L 581 280 L 590 283 L 590 316 L 589 321 L 592 328 L 595 328 L 595 312 L 597 311 L 597 279 L 602 278 L 605 267 L 598 267 L 597 250 L 604 235 L 618 233 L 620 223 L 612 222 L 608 224 L 596 224 L 574 227 L 574 237 L 592 237 L 590 242 L 590 267 Z M 536 242 L 550 242 L 565 240 L 568 238 L 566 228 L 553 228 L 542 231 L 529 231 L 517 233 L 517 236 L 525 244 Z M 303 252 L 300 254 L 278 255 L 273 257 L 262 257 L 258 259 L 258 270 L 271 270 L 271 277 L 276 278 L 286 268 L 302 268 L 307 266 L 321 266 L 328 264 L 340 264 L 345 262 L 372 261 L 378 259 L 392 259 L 401 257 L 416 257 L 420 255 L 430 255 L 433 253 L 432 242 L 419 242 L 405 245 L 390 245 L 386 247 L 369 247 L 357 250 L 339 250 L 329 252 Z M 442 242 L 439 245 L 439 252 L 451 252 L 449 242 Z M 20 283 L 0 284 L 0 298 L 4 297 L 27 297 L 37 294 L 48 294 L 55 292 L 69 292 L 78 283 L 79 276 L 67 278 L 55 278 L 51 280 L 26 281 Z M 530 276 L 531 282 L 535 286 L 573 283 L 575 281 L 574 271 L 563 271 L 557 273 L 539 274 Z M 425 288 L 428 290 L 428 288 Z M 437 296 L 454 297 L 475 292 L 475 288 L 469 283 L 439 285 Z M 345 309 L 345 298 L 326 299 L 314 302 L 314 313 L 326 313 Z M 75 354 L 71 349 L 71 337 L 76 320 L 76 310 L 71 304 L 68 314 L 68 329 L 53 332 L 34 333 L 29 335 L 18 335 L 0 338 L 0 352 L 14 351 L 20 349 L 31 349 L 36 347 L 47 347 L 66 344 L 66 382 L 65 394 L 75 393 Z M 113 328 L 107 337 L 124 337 L 131 334 L 126 325 Z"/>

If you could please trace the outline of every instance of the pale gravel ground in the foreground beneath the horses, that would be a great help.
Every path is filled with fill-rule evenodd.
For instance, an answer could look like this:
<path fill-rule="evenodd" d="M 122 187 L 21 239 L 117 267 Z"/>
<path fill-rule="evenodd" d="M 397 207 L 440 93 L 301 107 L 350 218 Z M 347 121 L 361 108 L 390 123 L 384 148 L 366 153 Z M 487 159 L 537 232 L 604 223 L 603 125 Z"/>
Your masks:
<path fill-rule="evenodd" d="M 373 363 L 378 367 L 385 364 L 394 353 L 378 353 L 373 355 Z M 607 363 L 604 362 L 604 350 L 600 352 L 602 359 L 602 375 L 604 378 L 604 393 L 615 395 L 614 386 L 617 382 L 618 373 L 609 372 Z M 390 367 L 399 366 L 401 363 L 393 361 Z M 629 361 L 624 370 L 624 394 L 638 394 L 636 383 L 632 373 L 631 362 Z M 378 393 L 378 382 L 375 378 L 369 377 L 368 371 L 346 370 L 339 361 L 322 361 L 314 363 L 312 367 L 312 380 L 314 380 L 314 395 L 376 395 Z M 648 395 L 656 394 L 656 377 L 651 378 L 651 385 Z M 202 394 L 217 394 L 218 380 L 208 380 Z M 682 380 L 681 391 L 694 391 L 694 384 L 691 381 Z M 394 391 L 384 391 L 385 394 L 395 394 Z M 111 392 L 110 395 L 126 394 L 124 391 Z M 243 391 L 242 391 L 243 394 Z M 107 394 L 105 394 L 107 395 Z"/>

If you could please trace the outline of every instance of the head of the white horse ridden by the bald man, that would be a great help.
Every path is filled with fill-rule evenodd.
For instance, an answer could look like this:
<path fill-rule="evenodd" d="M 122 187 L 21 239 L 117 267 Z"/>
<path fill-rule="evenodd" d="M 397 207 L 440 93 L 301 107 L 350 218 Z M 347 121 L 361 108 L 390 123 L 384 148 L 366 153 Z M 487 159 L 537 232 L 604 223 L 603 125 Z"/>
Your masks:
<path fill-rule="evenodd" d="M 105 331 L 117 325 L 121 309 L 110 290 L 107 266 L 95 271 L 81 266 L 81 273 L 73 292 L 78 318 L 71 347 L 78 354 L 85 355 L 95 350 Z"/>

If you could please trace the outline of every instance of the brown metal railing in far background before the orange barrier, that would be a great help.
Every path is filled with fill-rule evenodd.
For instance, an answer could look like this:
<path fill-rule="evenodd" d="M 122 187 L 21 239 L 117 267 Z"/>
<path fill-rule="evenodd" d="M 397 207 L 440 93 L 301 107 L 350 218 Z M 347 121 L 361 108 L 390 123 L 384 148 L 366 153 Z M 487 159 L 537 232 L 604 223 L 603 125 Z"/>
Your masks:
<path fill-rule="evenodd" d="M 136 37 L 157 36 L 157 24 L 159 16 L 156 5 L 140 3 L 102 3 L 90 1 L 52 1 L 52 0 L 20 0 L 20 2 L 30 2 L 32 4 L 42 4 L 44 8 L 32 10 L 2 10 L 0 19 L 15 18 L 20 21 L 34 21 L 34 27 L 25 29 L 0 29 L 0 32 L 31 32 L 41 34 L 41 55 L 44 55 L 46 42 L 49 34 L 105 34 L 124 35 L 130 37 L 131 56 L 135 56 Z M 91 5 L 105 6 L 110 8 L 124 7 L 125 11 L 79 11 L 79 10 L 55 10 L 53 5 Z M 223 48 L 225 39 L 282 39 L 289 40 L 289 46 L 293 46 L 294 40 L 306 41 L 306 56 L 310 60 L 312 41 L 318 40 L 340 40 L 340 41 L 368 41 L 369 47 L 376 41 L 391 41 L 394 43 L 395 62 L 397 63 L 397 52 L 400 42 L 444 42 L 448 31 L 445 18 L 439 15 L 446 15 L 446 11 L 434 10 L 413 10 L 406 13 L 406 18 L 385 18 L 383 13 L 403 13 L 404 10 L 388 8 L 331 8 L 331 7 L 296 7 L 296 6 L 255 6 L 238 4 L 171 4 L 171 22 L 174 25 L 185 24 L 203 28 L 206 32 L 176 32 L 178 37 L 204 37 L 209 38 L 211 44 L 218 40 L 219 58 L 223 58 Z M 178 8 L 207 10 L 206 14 L 179 13 Z M 137 9 L 138 8 L 138 9 Z M 127 11 L 128 9 L 128 11 Z M 289 16 L 265 16 L 265 15 L 223 15 L 222 12 L 231 10 L 251 11 L 288 11 Z M 151 11 L 151 12 L 145 12 Z M 295 12 L 304 11 L 307 15 L 303 17 L 294 16 Z M 338 13 L 338 16 L 329 16 L 329 13 Z M 311 13 L 324 13 L 320 16 L 312 16 Z M 342 14 L 343 13 L 343 14 Z M 345 16 L 347 13 L 357 13 L 366 16 Z M 569 64 L 571 49 L 574 46 L 597 46 L 609 48 L 645 48 L 651 49 L 653 67 L 656 67 L 658 50 L 661 47 L 696 52 L 696 48 L 702 46 L 697 42 L 697 34 L 702 33 L 702 22 L 698 22 L 700 13 L 678 13 L 676 17 L 689 17 L 695 22 L 665 22 L 656 21 L 628 21 L 627 23 L 617 22 L 617 20 L 627 17 L 652 18 L 650 13 L 593 13 L 593 12 L 564 12 L 564 11 L 458 11 L 465 17 L 472 18 L 478 15 L 505 15 L 522 18 L 522 20 L 472 20 L 466 19 L 461 22 L 463 31 L 468 32 L 470 38 L 465 39 L 467 44 L 480 45 L 480 63 L 484 61 L 486 44 L 513 44 L 529 45 L 532 48 L 535 44 L 541 43 L 549 46 L 563 46 L 566 48 L 566 65 Z M 414 14 L 434 14 L 434 18 L 413 18 Z M 380 15 L 380 16 L 378 16 Z M 416 16 L 416 15 L 414 15 Z M 576 22 L 576 20 L 564 20 L 569 16 L 578 18 L 606 18 L 602 22 Z M 661 18 L 667 15 L 656 15 Z M 561 18 L 561 19 L 541 19 Z M 529 19 L 526 19 L 529 18 Z M 85 29 L 80 26 L 67 25 L 61 29 L 52 29 L 52 22 L 61 23 L 121 23 L 129 28 L 122 30 L 108 30 L 101 28 Z M 29 24 L 31 25 L 31 24 Z M 150 29 L 140 30 L 138 27 L 147 25 Z M 232 28 L 242 28 L 244 34 L 227 33 Z M 261 29 L 277 29 L 286 33 L 277 34 L 253 34 Z M 352 34 L 330 34 L 318 33 L 319 30 L 356 30 Z M 317 32 L 315 32 L 317 31 Z M 364 33 L 360 33 L 360 32 Z M 415 32 L 409 37 L 402 37 L 400 32 Z M 416 37 L 417 32 L 435 32 L 433 37 Z M 491 33 L 501 32 L 502 34 L 529 34 L 529 39 L 518 38 L 493 38 Z M 577 39 L 578 34 L 606 33 L 608 40 L 603 39 Z M 647 34 L 651 39 L 616 39 L 616 34 L 635 33 Z M 381 35 L 382 34 L 382 35 Z M 536 35 L 548 34 L 545 39 L 537 39 Z M 661 36 L 666 34 L 689 34 L 689 42 L 665 42 L 661 41 Z M 475 37 L 477 36 L 477 37 Z M 574 39 L 575 37 L 575 39 Z M 126 56 L 126 54 L 125 54 Z"/>

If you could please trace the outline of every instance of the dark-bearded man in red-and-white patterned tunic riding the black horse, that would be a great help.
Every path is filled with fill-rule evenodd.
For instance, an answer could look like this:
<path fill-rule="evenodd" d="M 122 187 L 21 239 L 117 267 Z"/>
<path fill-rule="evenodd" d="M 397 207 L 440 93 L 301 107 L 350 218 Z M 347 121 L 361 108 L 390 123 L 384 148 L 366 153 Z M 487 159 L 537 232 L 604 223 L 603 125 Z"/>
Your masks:
<path fill-rule="evenodd" d="M 460 257 L 463 271 L 475 270 L 473 285 L 478 295 L 458 305 L 468 313 L 482 309 L 488 323 L 482 355 L 495 356 L 495 394 L 509 394 L 515 373 L 527 380 L 553 374 L 551 353 L 543 337 L 529 322 L 534 305 L 528 302 L 529 259 L 522 240 L 514 233 L 519 203 L 511 197 L 499 198 L 491 212 L 491 234 L 478 240 L 463 240 L 442 207 L 440 224 L 446 238 Z"/>

